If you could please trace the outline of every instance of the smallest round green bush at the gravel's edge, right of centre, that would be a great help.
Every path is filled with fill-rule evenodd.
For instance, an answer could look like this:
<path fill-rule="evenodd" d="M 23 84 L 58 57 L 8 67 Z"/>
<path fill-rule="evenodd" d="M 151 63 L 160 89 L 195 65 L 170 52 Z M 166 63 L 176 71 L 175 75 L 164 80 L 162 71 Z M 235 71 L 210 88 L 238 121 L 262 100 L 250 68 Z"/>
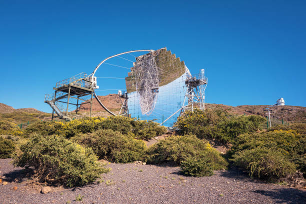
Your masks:
<path fill-rule="evenodd" d="M 180 170 L 185 175 L 210 176 L 213 175 L 213 169 L 213 163 L 205 154 L 197 157 L 187 156 L 180 162 Z"/>

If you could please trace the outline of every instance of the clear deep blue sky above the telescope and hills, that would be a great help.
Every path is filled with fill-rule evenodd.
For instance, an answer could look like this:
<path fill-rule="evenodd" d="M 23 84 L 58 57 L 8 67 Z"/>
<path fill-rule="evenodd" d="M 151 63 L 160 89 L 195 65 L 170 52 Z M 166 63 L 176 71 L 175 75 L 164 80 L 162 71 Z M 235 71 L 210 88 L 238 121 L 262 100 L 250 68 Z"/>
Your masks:
<path fill-rule="evenodd" d="M 50 112 L 56 81 L 164 46 L 205 69 L 206 102 L 306 106 L 304 0 L 0 0 L 0 102 Z"/>

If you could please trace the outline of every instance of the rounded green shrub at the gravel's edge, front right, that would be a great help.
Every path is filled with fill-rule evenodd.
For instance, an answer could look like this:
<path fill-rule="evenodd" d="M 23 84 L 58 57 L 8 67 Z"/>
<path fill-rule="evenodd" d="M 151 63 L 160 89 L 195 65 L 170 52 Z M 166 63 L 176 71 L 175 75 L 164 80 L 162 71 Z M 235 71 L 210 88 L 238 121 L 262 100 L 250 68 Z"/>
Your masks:
<path fill-rule="evenodd" d="M 279 150 L 256 147 L 238 151 L 231 159 L 235 165 L 249 171 L 251 176 L 273 180 L 295 172 L 294 163 Z"/>

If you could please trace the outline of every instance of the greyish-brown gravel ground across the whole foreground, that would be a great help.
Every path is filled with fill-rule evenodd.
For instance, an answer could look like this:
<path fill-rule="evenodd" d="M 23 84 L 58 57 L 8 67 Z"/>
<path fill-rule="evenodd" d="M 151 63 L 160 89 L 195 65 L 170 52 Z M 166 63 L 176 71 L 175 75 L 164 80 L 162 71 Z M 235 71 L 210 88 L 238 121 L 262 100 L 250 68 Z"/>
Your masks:
<path fill-rule="evenodd" d="M 2 181 L 8 182 L 0 185 L 0 203 L 306 203 L 306 191 L 252 180 L 238 169 L 196 178 L 181 175 L 179 167 L 135 163 L 110 163 L 100 183 L 42 194 L 10 160 L 0 159 Z M 82 201 L 75 200 L 78 194 Z"/>

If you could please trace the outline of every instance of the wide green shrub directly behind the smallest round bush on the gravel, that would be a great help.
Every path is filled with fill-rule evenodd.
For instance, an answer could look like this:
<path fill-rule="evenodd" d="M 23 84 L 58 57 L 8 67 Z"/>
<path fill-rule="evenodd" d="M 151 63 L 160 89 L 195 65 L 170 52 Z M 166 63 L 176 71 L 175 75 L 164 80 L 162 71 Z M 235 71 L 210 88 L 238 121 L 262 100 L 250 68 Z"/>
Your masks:
<path fill-rule="evenodd" d="M 226 168 L 226 160 L 206 140 L 195 135 L 169 136 L 153 144 L 147 151 L 148 163 L 173 162 L 180 165 L 185 158 L 205 155 L 214 170 Z"/>

